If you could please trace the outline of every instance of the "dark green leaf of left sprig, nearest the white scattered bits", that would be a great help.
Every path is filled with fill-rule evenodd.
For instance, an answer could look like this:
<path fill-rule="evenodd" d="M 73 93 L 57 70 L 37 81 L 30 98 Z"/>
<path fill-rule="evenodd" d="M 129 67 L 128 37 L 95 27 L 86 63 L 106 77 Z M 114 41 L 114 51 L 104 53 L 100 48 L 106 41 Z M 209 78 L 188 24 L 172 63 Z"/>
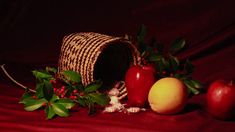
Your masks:
<path fill-rule="evenodd" d="M 101 93 L 92 93 L 92 94 L 89 94 L 89 96 L 92 102 L 97 103 L 102 106 L 107 105 L 110 101 L 108 96 L 101 94 Z"/>

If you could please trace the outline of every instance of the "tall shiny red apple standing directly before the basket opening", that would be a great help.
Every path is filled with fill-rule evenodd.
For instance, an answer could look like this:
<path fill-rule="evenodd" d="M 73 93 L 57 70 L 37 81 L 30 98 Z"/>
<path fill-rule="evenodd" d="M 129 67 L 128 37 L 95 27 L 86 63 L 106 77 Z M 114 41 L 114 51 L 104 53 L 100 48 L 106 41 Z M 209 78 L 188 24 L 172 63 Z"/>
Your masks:
<path fill-rule="evenodd" d="M 154 73 L 149 70 L 149 67 L 131 66 L 125 75 L 128 105 L 144 107 L 147 103 L 149 90 L 154 82 Z"/>

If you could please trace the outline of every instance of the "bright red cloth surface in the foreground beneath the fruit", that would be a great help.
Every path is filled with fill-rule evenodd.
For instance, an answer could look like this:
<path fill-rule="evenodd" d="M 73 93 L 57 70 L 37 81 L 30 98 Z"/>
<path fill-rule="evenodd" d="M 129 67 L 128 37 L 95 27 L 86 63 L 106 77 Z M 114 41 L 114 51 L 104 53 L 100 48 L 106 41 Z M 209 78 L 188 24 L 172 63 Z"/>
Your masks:
<path fill-rule="evenodd" d="M 90 117 L 86 109 L 75 109 L 67 118 L 46 120 L 43 110 L 27 112 L 18 104 L 23 90 L 1 83 L 1 131 L 233 131 L 234 122 L 219 121 L 205 111 L 204 94 L 194 96 L 183 112 L 159 115 L 151 110 L 137 114 L 101 113 Z"/>

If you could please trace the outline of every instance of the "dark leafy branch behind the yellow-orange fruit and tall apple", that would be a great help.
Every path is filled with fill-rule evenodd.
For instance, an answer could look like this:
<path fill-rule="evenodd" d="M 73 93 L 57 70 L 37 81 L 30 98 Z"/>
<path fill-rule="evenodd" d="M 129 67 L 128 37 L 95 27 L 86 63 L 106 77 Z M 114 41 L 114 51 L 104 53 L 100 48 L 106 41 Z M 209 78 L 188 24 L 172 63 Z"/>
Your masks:
<path fill-rule="evenodd" d="M 171 43 L 170 48 L 166 50 L 164 45 L 157 42 L 155 38 L 150 43 L 146 43 L 146 34 L 146 27 L 141 25 L 136 37 L 136 46 L 141 53 L 141 63 L 154 65 L 157 71 L 157 79 L 164 77 L 178 78 L 184 82 L 189 93 L 198 94 L 202 85 L 199 81 L 192 78 L 193 64 L 188 59 L 180 61 L 174 56 L 185 49 L 185 39 L 177 38 Z"/>

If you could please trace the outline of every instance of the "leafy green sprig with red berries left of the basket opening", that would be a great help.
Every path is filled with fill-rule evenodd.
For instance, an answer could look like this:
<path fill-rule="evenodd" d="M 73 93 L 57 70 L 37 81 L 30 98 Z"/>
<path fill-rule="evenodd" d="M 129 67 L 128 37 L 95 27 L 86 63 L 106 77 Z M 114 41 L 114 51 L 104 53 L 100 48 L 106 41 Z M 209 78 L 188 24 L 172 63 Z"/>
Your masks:
<path fill-rule="evenodd" d="M 26 111 L 44 108 L 47 119 L 56 115 L 69 116 L 69 109 L 76 104 L 88 107 L 89 115 L 96 112 L 95 105 L 108 104 L 109 98 L 98 89 L 101 81 L 95 81 L 88 86 L 81 83 L 81 75 L 74 71 L 64 71 L 64 79 L 55 78 L 57 70 L 47 67 L 46 70 L 34 70 L 36 77 L 36 92 L 26 91 L 19 103 L 24 104 Z"/>

